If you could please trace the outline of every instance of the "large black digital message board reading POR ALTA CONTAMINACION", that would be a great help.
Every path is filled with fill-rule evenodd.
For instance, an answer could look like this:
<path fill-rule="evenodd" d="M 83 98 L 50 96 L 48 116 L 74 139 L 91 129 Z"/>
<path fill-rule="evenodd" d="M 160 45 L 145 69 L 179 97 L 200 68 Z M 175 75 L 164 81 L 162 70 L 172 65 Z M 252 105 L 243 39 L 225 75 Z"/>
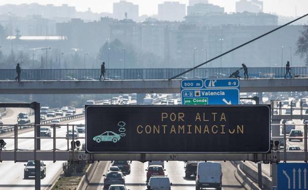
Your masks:
<path fill-rule="evenodd" d="M 266 153 L 269 131 L 266 105 L 86 106 L 88 153 Z"/>

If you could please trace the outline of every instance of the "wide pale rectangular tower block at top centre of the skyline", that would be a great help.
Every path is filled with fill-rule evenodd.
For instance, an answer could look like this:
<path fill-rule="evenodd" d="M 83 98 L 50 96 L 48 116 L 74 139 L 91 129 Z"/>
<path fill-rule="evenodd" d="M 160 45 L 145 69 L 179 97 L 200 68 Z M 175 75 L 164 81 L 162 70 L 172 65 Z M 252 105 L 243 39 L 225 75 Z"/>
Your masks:
<path fill-rule="evenodd" d="M 185 4 L 167 1 L 158 4 L 158 20 L 161 21 L 183 21 L 186 15 Z"/>

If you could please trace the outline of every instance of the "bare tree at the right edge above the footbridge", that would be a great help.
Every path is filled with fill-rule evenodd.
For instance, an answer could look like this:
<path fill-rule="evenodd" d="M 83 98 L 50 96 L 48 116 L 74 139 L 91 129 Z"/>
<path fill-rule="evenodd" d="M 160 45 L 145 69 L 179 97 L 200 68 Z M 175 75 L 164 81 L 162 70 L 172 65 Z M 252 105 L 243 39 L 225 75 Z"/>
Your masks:
<path fill-rule="evenodd" d="M 304 30 L 301 31 L 301 36 L 297 40 L 296 54 L 301 58 L 305 58 L 306 65 L 308 65 L 308 25 L 304 26 Z"/>

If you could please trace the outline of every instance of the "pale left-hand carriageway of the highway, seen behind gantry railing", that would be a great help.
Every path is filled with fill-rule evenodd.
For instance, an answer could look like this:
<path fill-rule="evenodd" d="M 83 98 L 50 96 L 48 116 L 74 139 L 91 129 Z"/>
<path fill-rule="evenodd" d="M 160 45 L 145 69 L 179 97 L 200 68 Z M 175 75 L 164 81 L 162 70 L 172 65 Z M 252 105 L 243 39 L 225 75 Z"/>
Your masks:
<path fill-rule="evenodd" d="M 15 110 L 15 109 L 14 109 Z M 21 112 L 21 110 L 20 110 Z M 82 112 L 82 109 L 79 109 L 79 112 Z M 4 121 L 11 121 L 11 123 L 16 122 L 16 114 L 11 116 L 3 117 L 3 124 L 6 124 Z M 66 124 L 66 123 L 62 123 Z M 85 120 L 75 120 L 69 122 L 69 124 L 85 124 Z M 33 137 L 34 130 L 26 129 L 27 132 L 19 132 L 19 137 Z M 51 134 L 52 136 L 53 134 Z M 57 137 L 65 137 L 66 127 L 61 127 L 56 129 Z M 1 136 L 12 136 L 12 134 L 1 134 Z M 85 134 L 80 134 L 80 137 L 85 137 Z M 81 143 L 84 143 L 84 139 L 80 139 Z M 6 150 L 14 149 L 13 140 L 5 140 L 7 143 Z M 42 139 L 41 140 L 41 150 L 51 150 L 53 147 L 52 139 Z M 18 148 L 32 150 L 34 149 L 34 140 L 33 139 L 20 139 L 18 140 Z M 58 139 L 56 141 L 56 148 L 60 150 L 67 149 L 67 141 L 65 139 Z M 47 190 L 55 180 L 55 177 L 62 172 L 62 163 L 64 161 L 44 161 L 46 164 L 46 177 L 41 180 L 41 190 Z M 33 190 L 34 189 L 34 178 L 24 179 L 24 164 L 25 162 L 14 161 L 3 161 L 0 163 L 1 171 L 1 180 L 0 180 L 0 190 Z"/>

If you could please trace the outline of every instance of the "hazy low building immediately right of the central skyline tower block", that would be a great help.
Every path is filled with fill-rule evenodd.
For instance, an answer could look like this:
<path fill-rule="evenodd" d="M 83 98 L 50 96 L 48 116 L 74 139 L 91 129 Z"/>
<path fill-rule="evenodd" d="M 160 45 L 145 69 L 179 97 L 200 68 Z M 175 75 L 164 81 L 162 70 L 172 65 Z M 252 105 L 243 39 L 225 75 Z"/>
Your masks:
<path fill-rule="evenodd" d="M 205 15 L 210 13 L 224 13 L 224 8 L 209 3 L 198 3 L 187 6 L 187 15 Z"/>

